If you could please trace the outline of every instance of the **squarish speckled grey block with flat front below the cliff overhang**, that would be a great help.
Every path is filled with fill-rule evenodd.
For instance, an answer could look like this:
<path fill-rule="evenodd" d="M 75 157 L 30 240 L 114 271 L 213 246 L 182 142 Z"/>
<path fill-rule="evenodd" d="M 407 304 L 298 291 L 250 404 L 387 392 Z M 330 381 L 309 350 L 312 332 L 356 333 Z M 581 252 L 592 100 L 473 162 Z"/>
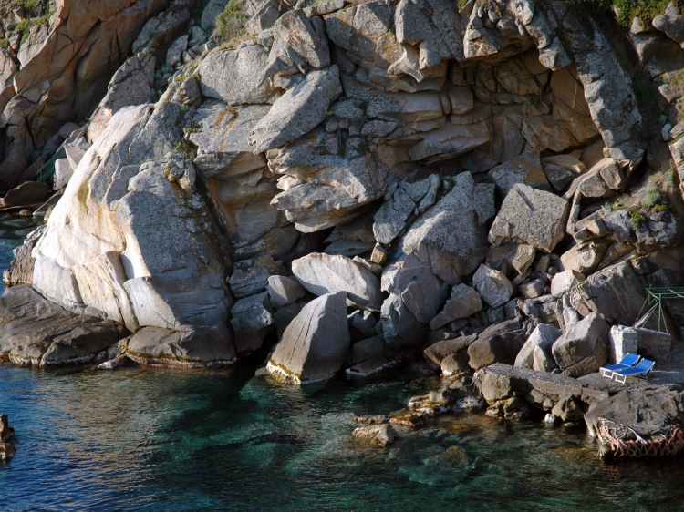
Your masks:
<path fill-rule="evenodd" d="M 495 245 L 523 241 L 551 252 L 563 240 L 568 209 L 569 203 L 563 198 L 516 183 L 494 219 L 489 241 Z"/>

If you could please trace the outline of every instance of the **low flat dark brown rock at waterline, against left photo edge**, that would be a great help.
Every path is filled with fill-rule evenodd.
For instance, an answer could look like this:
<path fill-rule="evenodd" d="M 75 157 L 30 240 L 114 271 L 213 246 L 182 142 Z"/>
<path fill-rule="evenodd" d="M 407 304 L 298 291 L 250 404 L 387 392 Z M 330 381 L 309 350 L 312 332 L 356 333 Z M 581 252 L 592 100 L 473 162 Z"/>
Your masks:
<path fill-rule="evenodd" d="M 26 285 L 0 297 L 0 362 L 88 363 L 125 335 L 120 323 L 67 312 Z"/>

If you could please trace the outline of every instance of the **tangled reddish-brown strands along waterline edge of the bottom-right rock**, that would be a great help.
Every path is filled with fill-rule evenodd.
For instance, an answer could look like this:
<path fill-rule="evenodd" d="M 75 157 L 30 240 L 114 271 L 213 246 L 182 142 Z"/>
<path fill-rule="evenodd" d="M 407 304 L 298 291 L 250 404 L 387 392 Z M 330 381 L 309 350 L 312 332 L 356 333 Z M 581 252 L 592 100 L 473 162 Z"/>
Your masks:
<path fill-rule="evenodd" d="M 684 430 L 679 427 L 663 426 L 660 432 L 660 435 L 647 440 L 627 425 L 617 424 L 604 417 L 598 418 L 601 445 L 610 445 L 610 454 L 615 457 L 676 456 L 682 452 Z M 626 439 L 627 433 L 635 435 L 636 439 Z"/>

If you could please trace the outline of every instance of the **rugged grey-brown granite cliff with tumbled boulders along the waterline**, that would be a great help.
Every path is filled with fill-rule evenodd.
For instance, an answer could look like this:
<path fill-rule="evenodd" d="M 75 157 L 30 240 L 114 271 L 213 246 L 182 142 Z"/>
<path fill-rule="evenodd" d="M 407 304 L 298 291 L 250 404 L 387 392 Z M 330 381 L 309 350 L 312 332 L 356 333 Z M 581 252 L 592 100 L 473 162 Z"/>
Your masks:
<path fill-rule="evenodd" d="M 306 384 L 425 357 L 453 383 L 390 424 L 684 425 L 679 384 L 596 381 L 627 352 L 679 365 L 682 302 L 647 300 L 684 282 L 677 5 L 82 4 L 0 0 L 0 212 L 44 220 L 0 363 L 262 351 Z"/>

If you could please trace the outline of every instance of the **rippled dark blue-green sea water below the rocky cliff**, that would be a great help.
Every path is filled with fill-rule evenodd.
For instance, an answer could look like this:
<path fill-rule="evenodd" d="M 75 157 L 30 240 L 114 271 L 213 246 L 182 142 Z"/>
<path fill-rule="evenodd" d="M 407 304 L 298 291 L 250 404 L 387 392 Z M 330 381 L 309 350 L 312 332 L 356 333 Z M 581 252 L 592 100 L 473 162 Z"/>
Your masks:
<path fill-rule="evenodd" d="M 5 267 L 33 229 L 14 220 L 0 220 Z M 461 415 L 387 448 L 351 438 L 352 415 L 397 410 L 436 377 L 398 369 L 298 388 L 254 369 L 0 364 L 0 412 L 17 433 L 0 510 L 684 509 L 684 459 L 608 465 L 583 428 Z"/>

